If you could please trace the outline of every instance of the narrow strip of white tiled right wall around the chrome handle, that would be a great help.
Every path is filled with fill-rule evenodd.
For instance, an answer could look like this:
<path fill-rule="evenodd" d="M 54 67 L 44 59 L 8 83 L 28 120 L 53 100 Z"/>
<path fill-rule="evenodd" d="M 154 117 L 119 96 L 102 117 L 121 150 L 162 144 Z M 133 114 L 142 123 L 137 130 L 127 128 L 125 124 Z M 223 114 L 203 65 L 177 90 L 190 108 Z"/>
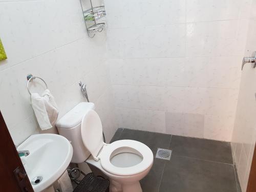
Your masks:
<path fill-rule="evenodd" d="M 256 51 L 256 1 L 252 1 L 249 30 L 247 33 L 245 56 L 251 56 Z M 242 191 L 246 191 L 252 156 L 256 141 L 256 69 L 246 64 L 241 77 L 238 108 L 232 135 L 232 154 L 238 169 L 238 177 Z"/>

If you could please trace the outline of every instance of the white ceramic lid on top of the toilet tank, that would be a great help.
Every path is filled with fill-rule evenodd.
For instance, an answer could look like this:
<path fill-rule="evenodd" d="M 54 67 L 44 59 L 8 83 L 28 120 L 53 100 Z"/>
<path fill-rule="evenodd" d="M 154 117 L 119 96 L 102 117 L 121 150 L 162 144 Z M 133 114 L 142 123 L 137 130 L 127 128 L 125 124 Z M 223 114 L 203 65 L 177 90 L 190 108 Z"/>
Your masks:
<path fill-rule="evenodd" d="M 83 116 L 89 111 L 94 110 L 95 105 L 92 102 L 80 102 L 66 115 L 61 117 L 57 122 L 58 128 L 72 128 L 81 123 Z"/>

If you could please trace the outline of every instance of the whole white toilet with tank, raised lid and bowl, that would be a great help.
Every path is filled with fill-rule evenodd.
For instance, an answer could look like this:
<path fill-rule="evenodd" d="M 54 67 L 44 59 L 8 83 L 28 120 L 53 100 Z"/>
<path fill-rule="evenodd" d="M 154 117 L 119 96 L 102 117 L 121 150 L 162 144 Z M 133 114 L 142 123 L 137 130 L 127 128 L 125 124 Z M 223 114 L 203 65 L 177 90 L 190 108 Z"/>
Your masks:
<path fill-rule="evenodd" d="M 110 179 L 111 192 L 142 191 L 139 181 L 153 165 L 153 153 L 145 144 L 119 140 L 106 144 L 94 103 L 81 102 L 56 123 L 59 134 L 71 141 L 71 162 L 87 163 L 99 168 Z"/>

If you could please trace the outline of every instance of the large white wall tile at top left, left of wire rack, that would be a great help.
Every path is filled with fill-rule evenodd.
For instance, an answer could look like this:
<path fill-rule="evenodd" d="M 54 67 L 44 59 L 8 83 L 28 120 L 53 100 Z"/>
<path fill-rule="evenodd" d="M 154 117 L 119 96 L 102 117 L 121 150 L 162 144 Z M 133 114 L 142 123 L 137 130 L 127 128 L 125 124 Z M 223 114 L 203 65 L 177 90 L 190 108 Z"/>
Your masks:
<path fill-rule="evenodd" d="M 49 0 L 2 3 L 1 25 L 15 27 L 1 30 L 8 65 L 0 69 L 84 37 L 84 25 L 78 6 L 74 2 Z"/>

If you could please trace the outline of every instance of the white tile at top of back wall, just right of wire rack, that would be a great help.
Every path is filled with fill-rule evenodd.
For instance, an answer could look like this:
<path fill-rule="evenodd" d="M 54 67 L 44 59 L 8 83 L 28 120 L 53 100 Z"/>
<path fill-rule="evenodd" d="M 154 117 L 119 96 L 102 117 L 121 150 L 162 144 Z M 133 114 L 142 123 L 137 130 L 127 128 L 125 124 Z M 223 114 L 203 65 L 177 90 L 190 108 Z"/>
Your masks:
<path fill-rule="evenodd" d="M 185 0 L 181 1 L 105 1 L 109 28 L 127 28 L 184 23 Z M 117 9 L 125 8 L 125 9 Z M 158 13 L 161 14 L 152 14 Z"/>

